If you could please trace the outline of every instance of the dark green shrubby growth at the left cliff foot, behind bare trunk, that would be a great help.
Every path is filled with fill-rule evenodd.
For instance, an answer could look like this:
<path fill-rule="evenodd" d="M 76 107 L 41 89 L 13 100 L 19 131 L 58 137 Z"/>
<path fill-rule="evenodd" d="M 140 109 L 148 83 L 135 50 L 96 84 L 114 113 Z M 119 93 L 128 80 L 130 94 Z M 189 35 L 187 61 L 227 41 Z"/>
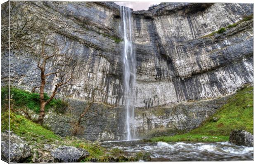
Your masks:
<path fill-rule="evenodd" d="M 8 87 L 1 87 L 1 107 L 8 101 L 8 90 Z M 50 98 L 46 93 L 44 94 L 44 97 L 45 100 Z M 23 89 L 10 87 L 10 98 L 11 103 L 14 105 L 13 108 L 19 109 L 27 107 L 28 109 L 39 113 L 40 101 L 38 93 L 30 93 Z M 66 107 L 67 103 L 65 101 L 54 98 L 45 106 L 45 111 L 48 111 L 49 108 L 54 108 L 56 112 L 62 112 Z"/>

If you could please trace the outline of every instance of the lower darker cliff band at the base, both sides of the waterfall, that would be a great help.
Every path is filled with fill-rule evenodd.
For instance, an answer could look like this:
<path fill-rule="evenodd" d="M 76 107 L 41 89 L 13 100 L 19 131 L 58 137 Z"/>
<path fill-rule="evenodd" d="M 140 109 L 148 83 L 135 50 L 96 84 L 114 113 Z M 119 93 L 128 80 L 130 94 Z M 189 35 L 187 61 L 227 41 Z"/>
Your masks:
<path fill-rule="evenodd" d="M 166 135 L 170 131 L 189 131 L 211 117 L 226 103 L 228 97 L 135 109 L 132 133 L 137 137 L 148 138 Z M 70 99 L 68 103 L 69 109 L 66 113 L 49 112 L 45 115 L 44 125 L 60 136 L 72 136 L 73 125 L 86 106 L 86 101 L 82 100 Z M 124 140 L 125 112 L 119 107 L 95 103 L 81 119 L 82 127 L 77 136 L 88 140 Z"/>

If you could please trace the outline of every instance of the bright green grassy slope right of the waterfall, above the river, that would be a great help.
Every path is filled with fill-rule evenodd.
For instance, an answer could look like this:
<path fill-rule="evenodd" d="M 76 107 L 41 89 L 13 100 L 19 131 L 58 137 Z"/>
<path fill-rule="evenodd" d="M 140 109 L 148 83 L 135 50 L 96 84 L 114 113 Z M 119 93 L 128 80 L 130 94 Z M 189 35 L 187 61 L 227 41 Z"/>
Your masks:
<path fill-rule="evenodd" d="M 218 121 L 214 122 L 213 117 Z M 243 129 L 253 134 L 253 87 L 246 87 L 228 99 L 201 127 L 186 134 L 151 138 L 149 141 L 228 141 L 230 131 Z M 203 139 L 204 137 L 207 137 Z"/>

